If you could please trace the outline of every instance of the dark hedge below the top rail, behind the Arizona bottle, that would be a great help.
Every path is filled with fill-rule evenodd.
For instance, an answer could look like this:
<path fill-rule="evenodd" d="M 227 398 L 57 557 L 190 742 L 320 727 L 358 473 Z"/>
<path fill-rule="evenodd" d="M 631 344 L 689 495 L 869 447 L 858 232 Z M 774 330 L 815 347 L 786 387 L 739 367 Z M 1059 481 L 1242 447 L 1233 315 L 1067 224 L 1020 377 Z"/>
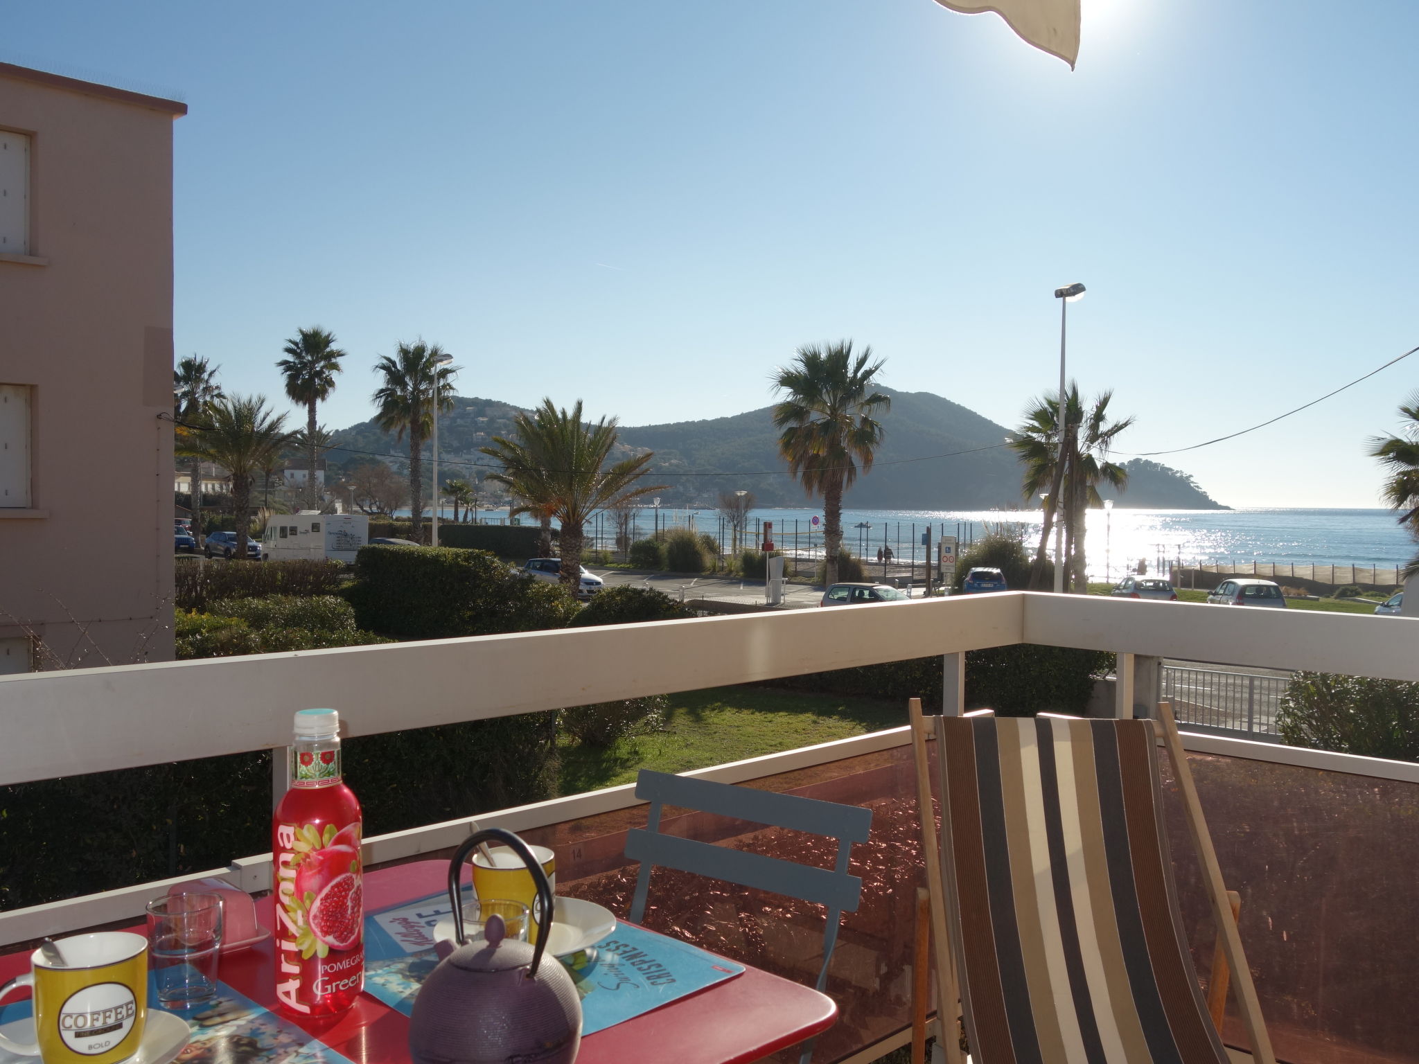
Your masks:
<path fill-rule="evenodd" d="M 366 836 L 400 831 L 552 797 L 555 743 L 556 714 L 356 736 L 345 742 L 345 779 Z M 267 750 L 0 787 L 0 909 L 270 848 Z"/>

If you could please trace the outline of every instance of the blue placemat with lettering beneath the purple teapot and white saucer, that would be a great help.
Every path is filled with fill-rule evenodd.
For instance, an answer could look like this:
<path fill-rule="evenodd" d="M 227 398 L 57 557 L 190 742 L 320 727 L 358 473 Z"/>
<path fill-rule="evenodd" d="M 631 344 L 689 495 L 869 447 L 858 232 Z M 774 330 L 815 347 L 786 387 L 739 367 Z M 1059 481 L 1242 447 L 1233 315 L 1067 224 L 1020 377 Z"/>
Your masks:
<path fill-rule="evenodd" d="M 365 990 L 404 1016 L 438 965 L 433 929 L 451 915 L 431 895 L 365 916 Z M 744 965 L 622 924 L 593 949 L 563 962 L 582 996 L 582 1034 L 595 1034 L 744 972 Z"/>

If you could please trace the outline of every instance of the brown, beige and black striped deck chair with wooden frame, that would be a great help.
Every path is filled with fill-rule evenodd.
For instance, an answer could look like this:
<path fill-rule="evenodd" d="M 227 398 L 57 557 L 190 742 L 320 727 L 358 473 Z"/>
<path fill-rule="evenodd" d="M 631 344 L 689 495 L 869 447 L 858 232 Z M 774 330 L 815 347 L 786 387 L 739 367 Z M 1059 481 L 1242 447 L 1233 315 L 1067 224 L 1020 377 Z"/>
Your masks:
<path fill-rule="evenodd" d="M 938 997 L 973 1064 L 1229 1064 L 1182 932 L 1162 823 L 1172 759 L 1253 1060 L 1276 1064 L 1171 708 L 1159 719 L 912 712 L 937 739 L 949 942 Z M 918 785 L 920 786 L 920 785 Z M 929 783 L 927 785 L 929 786 Z M 928 854 L 929 857 L 929 854 Z M 942 970 L 945 969 L 945 970 Z M 954 1024 L 941 1021 L 938 1029 Z M 962 1057 L 946 1037 L 948 1060 Z"/>

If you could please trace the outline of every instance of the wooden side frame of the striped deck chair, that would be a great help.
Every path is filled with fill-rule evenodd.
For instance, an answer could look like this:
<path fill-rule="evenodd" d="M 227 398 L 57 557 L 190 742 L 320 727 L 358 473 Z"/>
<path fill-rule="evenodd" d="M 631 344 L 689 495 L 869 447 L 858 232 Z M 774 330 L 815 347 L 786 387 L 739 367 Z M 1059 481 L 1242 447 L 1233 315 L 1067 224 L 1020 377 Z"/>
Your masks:
<path fill-rule="evenodd" d="M 944 1043 L 946 1060 L 952 1064 L 966 1064 L 966 1055 L 961 1051 L 955 1037 L 955 1017 L 962 1007 L 958 983 L 959 946 L 951 941 L 951 935 L 948 933 L 941 836 L 935 824 L 935 804 L 931 792 L 929 756 L 927 750 L 927 739 L 934 738 L 937 741 L 937 770 L 941 773 L 941 779 L 945 779 L 945 743 L 941 739 L 941 721 L 944 718 L 928 719 L 922 715 L 920 698 L 910 701 L 908 714 L 911 719 L 912 756 L 917 769 L 917 802 L 921 810 L 922 855 L 927 863 L 927 890 L 931 902 L 932 955 L 937 969 L 937 1033 L 938 1041 Z M 966 716 L 986 714 L 993 715 L 990 709 L 981 709 L 966 714 Z M 1049 715 L 1057 716 L 1059 714 Z M 1198 799 L 1198 789 L 1192 779 L 1186 752 L 1182 748 L 1182 736 L 1178 733 L 1171 704 L 1158 704 L 1154 731 L 1168 750 L 1168 758 L 1172 763 L 1174 779 L 1182 796 L 1188 831 L 1192 836 L 1193 848 L 1202 865 L 1203 888 L 1208 892 L 1212 916 L 1218 928 L 1208 1012 L 1220 1036 L 1226 992 L 1230 982 L 1237 1009 L 1242 1014 L 1242 1023 L 1252 1043 L 1253 1060 L 1259 1061 L 1259 1064 L 1276 1064 L 1276 1054 L 1266 1030 L 1266 1021 L 1261 1017 L 1256 985 L 1252 982 L 1252 969 L 1247 968 L 1246 953 L 1242 949 L 1242 936 L 1237 932 L 1236 915 L 1240 898 L 1235 892 L 1227 891 L 1222 880 L 1222 868 L 1218 864 L 1218 854 L 1212 846 L 1212 836 L 1208 833 L 1206 817 L 1202 811 L 1202 803 Z"/>

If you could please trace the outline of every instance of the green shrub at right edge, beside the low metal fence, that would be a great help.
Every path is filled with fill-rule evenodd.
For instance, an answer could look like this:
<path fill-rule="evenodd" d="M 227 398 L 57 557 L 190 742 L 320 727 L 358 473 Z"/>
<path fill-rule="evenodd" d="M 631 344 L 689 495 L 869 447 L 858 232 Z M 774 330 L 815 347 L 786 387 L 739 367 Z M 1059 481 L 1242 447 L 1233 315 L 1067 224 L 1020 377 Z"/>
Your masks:
<path fill-rule="evenodd" d="M 1281 695 L 1276 731 L 1288 746 L 1419 760 L 1419 684 L 1297 672 Z"/>

